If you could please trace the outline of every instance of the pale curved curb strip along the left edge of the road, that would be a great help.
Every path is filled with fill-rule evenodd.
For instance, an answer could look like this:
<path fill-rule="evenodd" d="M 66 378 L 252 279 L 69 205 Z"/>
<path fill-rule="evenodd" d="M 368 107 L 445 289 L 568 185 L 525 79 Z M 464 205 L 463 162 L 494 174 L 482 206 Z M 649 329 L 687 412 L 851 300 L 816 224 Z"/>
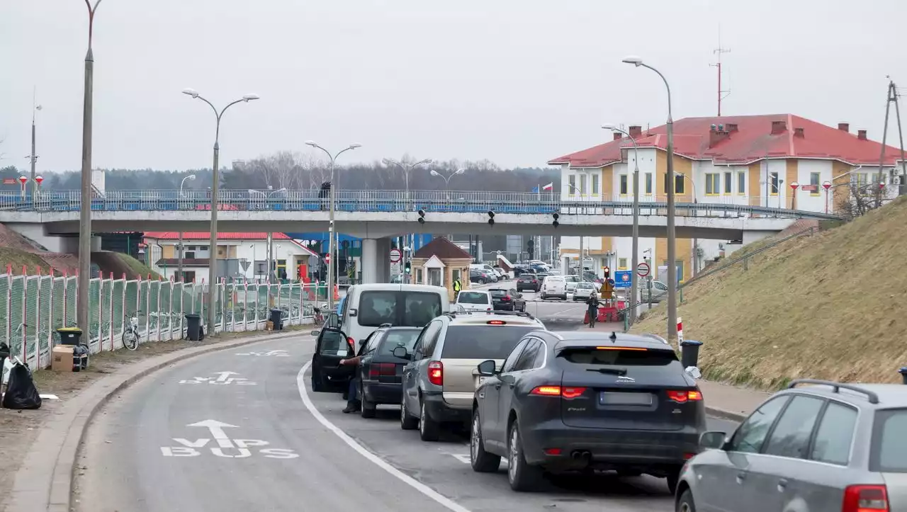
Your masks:
<path fill-rule="evenodd" d="M 225 341 L 165 353 L 102 377 L 77 393 L 54 417 L 48 418 L 25 456 L 23 467 L 15 474 L 6 512 L 71 512 L 74 508 L 73 483 L 76 459 L 88 424 L 116 393 L 152 372 L 199 355 L 232 348 L 307 336 L 306 331 L 264 334 L 236 341 Z M 57 428 L 54 429 L 54 426 Z"/>

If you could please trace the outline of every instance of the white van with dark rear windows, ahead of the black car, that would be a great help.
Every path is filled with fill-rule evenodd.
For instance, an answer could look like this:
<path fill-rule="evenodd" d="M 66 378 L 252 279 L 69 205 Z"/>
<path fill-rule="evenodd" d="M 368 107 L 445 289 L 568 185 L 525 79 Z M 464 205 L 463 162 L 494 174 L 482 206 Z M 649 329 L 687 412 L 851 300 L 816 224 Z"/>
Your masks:
<path fill-rule="evenodd" d="M 346 300 L 340 310 L 339 328 L 359 343 L 382 324 L 424 327 L 448 312 L 450 299 L 447 289 L 442 286 L 352 285 L 346 291 Z"/>

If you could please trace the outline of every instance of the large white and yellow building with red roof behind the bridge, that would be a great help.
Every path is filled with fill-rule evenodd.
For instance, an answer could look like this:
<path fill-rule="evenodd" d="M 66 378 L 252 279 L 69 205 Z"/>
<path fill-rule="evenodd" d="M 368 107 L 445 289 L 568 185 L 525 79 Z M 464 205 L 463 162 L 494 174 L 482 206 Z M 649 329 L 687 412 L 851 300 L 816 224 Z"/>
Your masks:
<path fill-rule="evenodd" d="M 639 147 L 639 200 L 666 200 L 667 129 L 627 130 Z M 686 118 L 674 121 L 675 195 L 678 202 L 726 203 L 834 213 L 850 197 L 851 183 L 877 187 L 883 146 L 866 130 L 853 133 L 792 114 Z M 902 153 L 886 146 L 881 159 L 883 194 L 897 195 Z M 619 133 L 599 146 L 549 160 L 561 166 L 561 196 L 570 200 L 631 201 L 633 143 Z M 826 191 L 823 184 L 830 184 Z M 791 184 L 798 184 L 795 190 Z M 873 188 L 874 189 L 874 188 Z M 827 206 L 826 206 L 827 205 Z M 697 266 L 729 253 L 727 240 L 697 240 Z M 584 237 L 583 252 L 601 266 L 629 270 L 629 237 Z M 577 255 L 579 237 L 561 237 L 561 254 Z M 639 261 L 667 266 L 665 238 L 641 238 Z M 678 275 L 693 275 L 693 242 L 678 239 Z M 587 264 L 588 265 L 588 264 Z M 654 269 L 653 269 L 654 270 Z M 658 278 L 658 276 L 657 276 Z"/>

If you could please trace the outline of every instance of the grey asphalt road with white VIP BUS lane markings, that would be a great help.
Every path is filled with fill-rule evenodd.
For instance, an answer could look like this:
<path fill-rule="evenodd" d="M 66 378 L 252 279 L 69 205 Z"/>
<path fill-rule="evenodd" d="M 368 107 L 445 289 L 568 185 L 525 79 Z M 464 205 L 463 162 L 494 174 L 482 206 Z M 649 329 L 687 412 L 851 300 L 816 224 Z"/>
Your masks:
<path fill-rule="evenodd" d="M 571 476 L 513 493 L 505 463 L 473 472 L 463 434 L 424 443 L 400 429 L 395 407 L 374 420 L 342 414 L 339 394 L 308 389 L 313 344 L 300 336 L 212 353 L 122 391 L 89 428 L 77 509 L 672 510 L 659 478 Z"/>

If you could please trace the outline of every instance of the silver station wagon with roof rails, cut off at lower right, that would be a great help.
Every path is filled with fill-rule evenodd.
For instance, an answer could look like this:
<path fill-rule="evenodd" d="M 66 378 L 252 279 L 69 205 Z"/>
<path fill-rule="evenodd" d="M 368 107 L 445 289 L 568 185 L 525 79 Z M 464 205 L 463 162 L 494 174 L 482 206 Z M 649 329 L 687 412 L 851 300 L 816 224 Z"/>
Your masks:
<path fill-rule="evenodd" d="M 729 438 L 702 435 L 677 509 L 903 512 L 904 432 L 907 386 L 791 382 Z"/>

